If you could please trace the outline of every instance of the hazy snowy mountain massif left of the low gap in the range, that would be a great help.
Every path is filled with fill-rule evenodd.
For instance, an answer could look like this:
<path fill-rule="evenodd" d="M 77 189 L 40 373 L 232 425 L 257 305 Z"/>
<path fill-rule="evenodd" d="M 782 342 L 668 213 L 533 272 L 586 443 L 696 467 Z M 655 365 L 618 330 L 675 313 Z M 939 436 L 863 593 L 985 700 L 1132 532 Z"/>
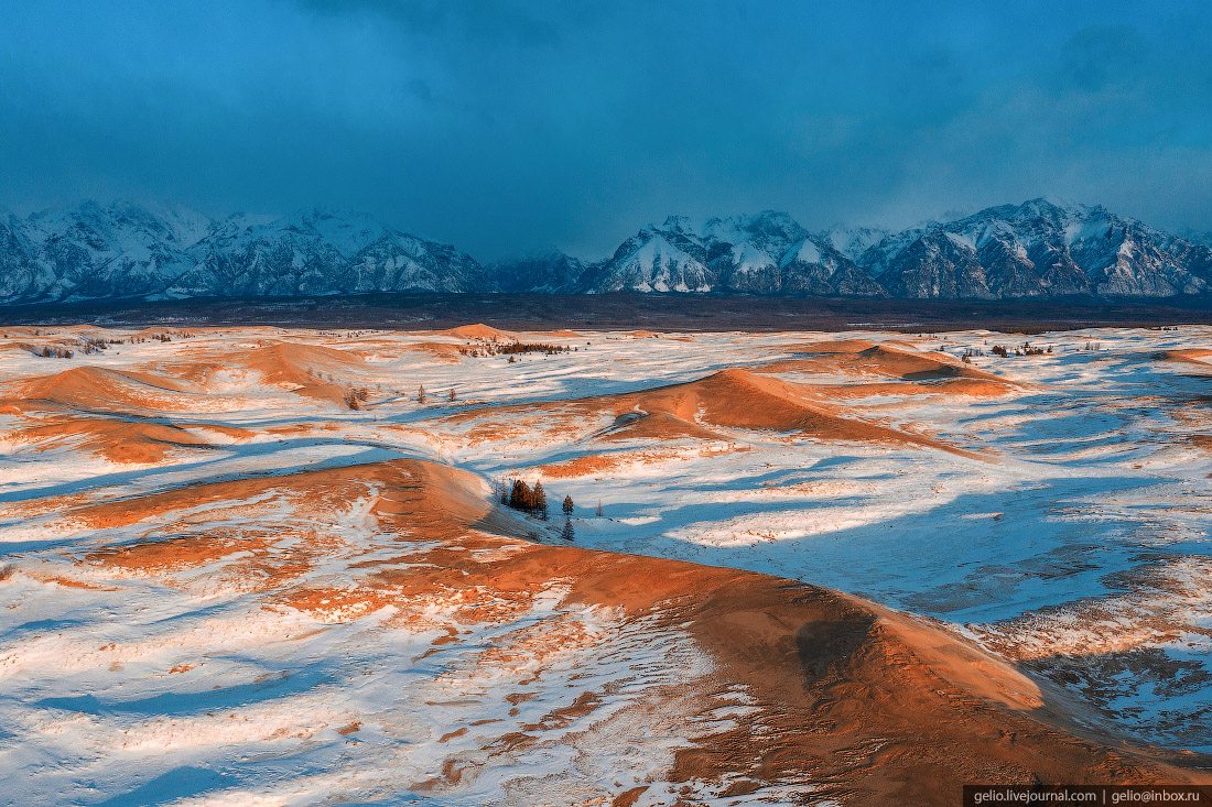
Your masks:
<path fill-rule="evenodd" d="M 0 301 L 464 292 L 484 269 L 452 246 L 359 214 L 219 221 L 172 207 L 84 202 L 0 219 Z"/>

